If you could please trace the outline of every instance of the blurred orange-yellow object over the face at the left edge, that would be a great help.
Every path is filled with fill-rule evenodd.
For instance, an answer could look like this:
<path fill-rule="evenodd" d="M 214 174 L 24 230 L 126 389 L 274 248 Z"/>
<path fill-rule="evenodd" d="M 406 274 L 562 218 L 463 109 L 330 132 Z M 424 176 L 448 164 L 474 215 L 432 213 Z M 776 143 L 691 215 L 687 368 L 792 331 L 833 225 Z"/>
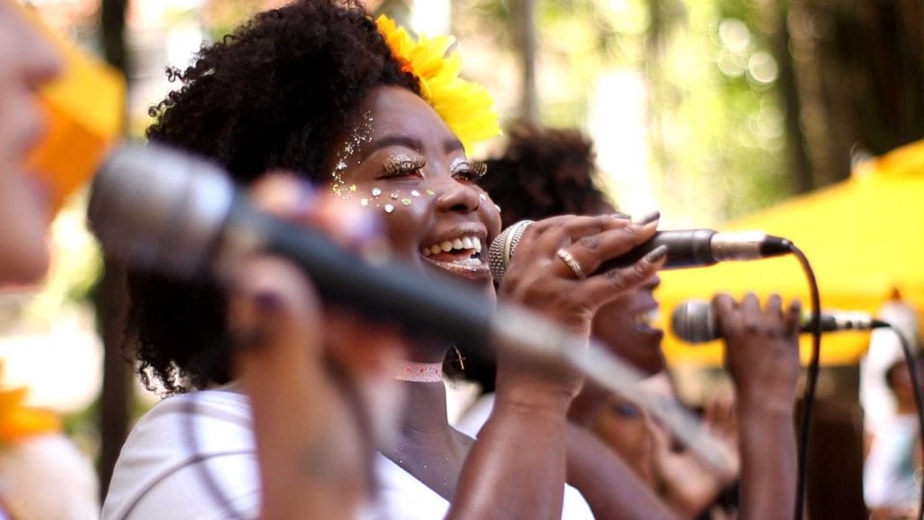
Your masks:
<path fill-rule="evenodd" d="M 35 13 L 19 7 L 65 56 L 63 74 L 40 91 L 47 132 L 29 159 L 31 170 L 53 187 L 57 208 L 91 178 L 109 144 L 121 135 L 126 82 L 115 68 L 55 36 Z"/>

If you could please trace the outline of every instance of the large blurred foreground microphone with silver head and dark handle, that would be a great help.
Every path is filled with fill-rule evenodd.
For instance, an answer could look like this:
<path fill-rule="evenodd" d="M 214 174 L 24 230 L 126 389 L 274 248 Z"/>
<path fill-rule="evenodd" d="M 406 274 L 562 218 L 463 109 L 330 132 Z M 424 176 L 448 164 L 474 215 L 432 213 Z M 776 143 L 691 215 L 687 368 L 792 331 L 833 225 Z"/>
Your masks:
<path fill-rule="evenodd" d="M 88 216 L 105 252 L 138 270 L 225 281 L 244 256 L 267 252 L 301 266 L 325 302 L 367 318 L 473 348 L 496 334 L 494 306 L 467 285 L 397 261 L 371 266 L 318 230 L 257 211 L 221 167 L 174 149 L 116 150 L 93 181 Z"/>

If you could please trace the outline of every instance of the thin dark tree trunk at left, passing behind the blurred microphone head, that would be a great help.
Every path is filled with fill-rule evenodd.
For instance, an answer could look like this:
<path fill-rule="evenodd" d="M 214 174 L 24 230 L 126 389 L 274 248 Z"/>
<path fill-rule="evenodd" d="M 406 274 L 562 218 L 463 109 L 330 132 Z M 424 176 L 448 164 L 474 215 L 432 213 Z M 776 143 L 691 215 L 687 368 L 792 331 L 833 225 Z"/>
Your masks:
<path fill-rule="evenodd" d="M 103 55 L 107 62 L 128 78 L 128 45 L 125 38 L 125 11 L 128 0 L 103 0 L 100 13 Z M 123 128 L 127 125 L 123 124 Z M 116 459 L 128 435 L 132 394 L 132 370 L 122 353 L 123 316 L 128 298 L 125 268 L 105 261 L 103 279 L 96 288 L 97 327 L 103 338 L 103 394 L 100 402 L 100 493 L 109 489 Z"/>

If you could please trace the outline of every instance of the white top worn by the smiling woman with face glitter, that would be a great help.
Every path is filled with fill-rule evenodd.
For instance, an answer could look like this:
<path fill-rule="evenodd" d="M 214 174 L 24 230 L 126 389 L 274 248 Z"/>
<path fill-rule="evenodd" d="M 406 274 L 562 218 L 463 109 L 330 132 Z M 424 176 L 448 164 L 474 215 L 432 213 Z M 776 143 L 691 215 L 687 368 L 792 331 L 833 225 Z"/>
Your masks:
<path fill-rule="evenodd" d="M 361 518 L 445 516 L 449 502 L 416 477 L 382 455 L 376 457 L 375 466 L 379 495 Z M 516 490 L 512 484 L 511 492 Z M 564 504 L 563 519 L 593 518 L 577 489 L 566 487 Z M 103 520 L 234 517 L 225 507 L 233 507 L 244 518 L 255 518 L 260 510 L 259 466 L 247 396 L 203 390 L 157 403 L 122 448 L 103 503 Z"/>

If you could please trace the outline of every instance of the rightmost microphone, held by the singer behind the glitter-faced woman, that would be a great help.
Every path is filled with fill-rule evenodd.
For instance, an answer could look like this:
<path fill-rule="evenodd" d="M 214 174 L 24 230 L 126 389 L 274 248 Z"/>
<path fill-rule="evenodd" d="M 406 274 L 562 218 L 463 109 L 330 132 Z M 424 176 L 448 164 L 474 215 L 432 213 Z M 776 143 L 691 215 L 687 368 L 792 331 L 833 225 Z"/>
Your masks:
<path fill-rule="evenodd" d="M 871 330 L 882 327 L 889 327 L 889 324 L 873 319 L 866 313 L 853 311 L 821 313 L 822 332 Z M 701 300 L 687 300 L 677 305 L 674 308 L 674 315 L 671 316 L 671 328 L 674 329 L 677 338 L 687 343 L 706 343 L 722 337 L 712 304 Z M 801 328 L 803 332 L 811 332 L 811 323 L 804 320 Z"/>

